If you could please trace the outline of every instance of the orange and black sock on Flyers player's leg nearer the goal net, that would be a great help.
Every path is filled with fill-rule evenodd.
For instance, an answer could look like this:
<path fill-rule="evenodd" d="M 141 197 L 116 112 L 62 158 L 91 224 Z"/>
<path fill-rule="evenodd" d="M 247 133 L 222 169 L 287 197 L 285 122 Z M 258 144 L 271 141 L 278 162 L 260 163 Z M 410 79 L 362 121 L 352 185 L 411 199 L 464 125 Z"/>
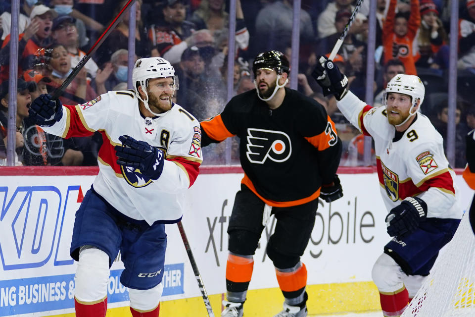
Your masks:
<path fill-rule="evenodd" d="M 285 303 L 291 306 L 305 305 L 308 296 L 306 296 L 305 286 L 307 285 L 307 268 L 305 264 L 299 262 L 291 268 L 277 268 L 277 281 L 285 297 Z"/>

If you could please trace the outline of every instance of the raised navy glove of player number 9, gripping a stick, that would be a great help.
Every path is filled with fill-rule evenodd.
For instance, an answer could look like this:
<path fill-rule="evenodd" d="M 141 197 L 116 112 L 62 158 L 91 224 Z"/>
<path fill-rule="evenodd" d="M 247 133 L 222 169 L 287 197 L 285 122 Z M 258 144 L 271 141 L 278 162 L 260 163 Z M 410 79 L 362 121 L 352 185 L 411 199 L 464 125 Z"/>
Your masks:
<path fill-rule="evenodd" d="M 318 56 L 312 77 L 322 87 L 324 96 L 334 95 L 336 100 L 341 100 L 348 91 L 348 78 L 325 56 Z"/>

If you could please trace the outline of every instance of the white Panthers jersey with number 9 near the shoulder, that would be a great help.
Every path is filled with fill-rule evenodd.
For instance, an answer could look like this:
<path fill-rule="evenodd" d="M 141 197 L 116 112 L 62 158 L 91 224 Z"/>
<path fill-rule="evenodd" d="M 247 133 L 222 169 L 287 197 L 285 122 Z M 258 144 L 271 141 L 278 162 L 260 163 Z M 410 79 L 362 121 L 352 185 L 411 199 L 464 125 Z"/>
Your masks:
<path fill-rule="evenodd" d="M 385 107 L 371 107 L 348 92 L 337 103 L 343 115 L 375 140 L 380 192 L 388 211 L 409 196 L 427 204 L 427 217 L 462 218 L 455 173 L 444 155 L 442 136 L 429 119 L 417 118 L 394 141 L 396 129 L 389 124 Z"/>

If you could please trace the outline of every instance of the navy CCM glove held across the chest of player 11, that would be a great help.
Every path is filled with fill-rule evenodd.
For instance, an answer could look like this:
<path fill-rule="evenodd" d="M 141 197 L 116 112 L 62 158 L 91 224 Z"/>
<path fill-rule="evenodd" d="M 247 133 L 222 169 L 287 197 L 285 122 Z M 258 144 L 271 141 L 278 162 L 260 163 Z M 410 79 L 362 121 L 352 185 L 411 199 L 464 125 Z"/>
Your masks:
<path fill-rule="evenodd" d="M 142 175 L 153 180 L 160 177 L 164 164 L 162 150 L 128 135 L 121 135 L 119 141 L 122 142 L 122 146 L 114 147 L 118 158 L 117 164 L 138 168 Z"/>

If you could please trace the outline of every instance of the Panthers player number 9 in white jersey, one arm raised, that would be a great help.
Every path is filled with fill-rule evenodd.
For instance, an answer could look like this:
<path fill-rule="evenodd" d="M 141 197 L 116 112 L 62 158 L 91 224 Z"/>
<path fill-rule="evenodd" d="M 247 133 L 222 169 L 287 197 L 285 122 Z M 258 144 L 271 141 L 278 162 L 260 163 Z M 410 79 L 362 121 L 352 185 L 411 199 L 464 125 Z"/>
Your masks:
<path fill-rule="evenodd" d="M 343 115 L 375 141 L 392 238 L 374 264 L 372 277 L 384 316 L 400 316 L 462 217 L 442 137 L 418 112 L 424 84 L 417 76 L 398 74 L 387 84 L 384 106 L 371 107 L 348 91 L 346 76 L 326 57 L 319 57 L 312 76 L 325 95 L 335 96 Z"/>

